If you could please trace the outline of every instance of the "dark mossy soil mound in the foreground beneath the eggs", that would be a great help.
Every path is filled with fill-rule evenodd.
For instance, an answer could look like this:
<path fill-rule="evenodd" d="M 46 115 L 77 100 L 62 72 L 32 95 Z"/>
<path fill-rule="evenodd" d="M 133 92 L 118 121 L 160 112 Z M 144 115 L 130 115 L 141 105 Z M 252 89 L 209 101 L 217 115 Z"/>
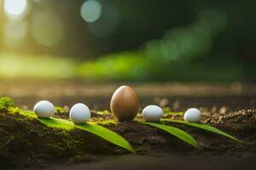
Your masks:
<path fill-rule="evenodd" d="M 94 113 L 94 112 L 93 112 Z M 67 118 L 67 113 L 56 114 Z M 198 140 L 200 149 L 195 150 L 172 135 L 148 127 L 139 122 L 119 122 L 111 115 L 92 114 L 94 121 L 122 135 L 139 155 L 175 153 L 176 155 L 222 155 L 256 151 L 256 111 L 241 110 L 223 116 L 203 116 L 203 122 L 212 124 L 242 140 L 236 143 L 217 134 L 198 128 L 172 123 Z M 137 116 L 140 119 L 141 116 Z M 180 119 L 180 116 L 173 116 Z M 90 133 L 80 130 L 70 132 L 46 127 L 37 120 L 0 111 L 0 168 L 42 167 L 51 163 L 63 164 L 81 161 L 98 161 L 98 156 L 129 154 Z"/>

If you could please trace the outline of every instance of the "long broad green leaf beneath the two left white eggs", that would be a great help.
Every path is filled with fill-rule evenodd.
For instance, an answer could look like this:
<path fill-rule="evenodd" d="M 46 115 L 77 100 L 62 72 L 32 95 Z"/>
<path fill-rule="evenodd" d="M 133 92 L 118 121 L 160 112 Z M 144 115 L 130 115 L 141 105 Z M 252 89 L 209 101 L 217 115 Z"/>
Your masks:
<path fill-rule="evenodd" d="M 39 118 L 34 114 L 33 111 L 20 111 L 21 115 L 24 116 L 30 116 L 32 118 L 37 119 L 39 122 L 42 122 L 48 127 L 55 127 L 55 128 L 61 128 L 64 130 L 73 130 L 73 128 L 78 128 L 80 130 L 93 133 L 96 136 L 101 137 L 102 139 L 107 140 L 108 142 L 112 144 L 116 144 L 122 148 L 125 148 L 126 150 L 130 150 L 132 153 L 136 153 L 136 150 L 134 150 L 131 147 L 131 144 L 125 140 L 122 136 L 120 136 L 118 133 L 113 132 L 112 130 L 102 127 L 100 125 L 97 125 L 96 123 L 87 122 L 84 124 L 74 125 L 73 122 L 70 122 L 66 119 L 59 119 L 59 118 Z"/>

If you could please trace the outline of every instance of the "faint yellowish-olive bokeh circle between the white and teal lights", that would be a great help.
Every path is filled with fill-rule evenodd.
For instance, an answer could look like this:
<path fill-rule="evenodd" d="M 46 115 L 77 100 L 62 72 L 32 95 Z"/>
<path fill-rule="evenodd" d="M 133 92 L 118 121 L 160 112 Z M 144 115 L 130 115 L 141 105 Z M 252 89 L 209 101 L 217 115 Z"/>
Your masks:
<path fill-rule="evenodd" d="M 32 36 L 45 47 L 55 47 L 65 37 L 61 17 L 49 10 L 38 10 L 32 15 Z"/>

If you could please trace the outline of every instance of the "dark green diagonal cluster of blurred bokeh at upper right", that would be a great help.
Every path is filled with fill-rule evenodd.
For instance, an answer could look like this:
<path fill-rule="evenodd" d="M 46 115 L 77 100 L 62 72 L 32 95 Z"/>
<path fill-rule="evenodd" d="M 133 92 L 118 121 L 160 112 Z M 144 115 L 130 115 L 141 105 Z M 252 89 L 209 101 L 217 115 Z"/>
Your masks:
<path fill-rule="evenodd" d="M 146 43 L 148 58 L 162 64 L 170 61 L 189 61 L 212 49 L 213 37 L 225 28 L 225 14 L 205 9 L 188 26 L 167 31 L 160 40 Z"/>

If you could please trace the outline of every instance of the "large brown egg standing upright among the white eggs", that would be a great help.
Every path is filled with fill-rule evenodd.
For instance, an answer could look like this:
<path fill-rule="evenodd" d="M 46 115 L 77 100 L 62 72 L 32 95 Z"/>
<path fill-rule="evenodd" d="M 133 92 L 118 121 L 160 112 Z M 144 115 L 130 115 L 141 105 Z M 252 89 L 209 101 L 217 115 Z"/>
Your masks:
<path fill-rule="evenodd" d="M 117 88 L 110 101 L 110 109 L 120 122 L 131 121 L 139 111 L 136 92 L 129 86 Z"/>

